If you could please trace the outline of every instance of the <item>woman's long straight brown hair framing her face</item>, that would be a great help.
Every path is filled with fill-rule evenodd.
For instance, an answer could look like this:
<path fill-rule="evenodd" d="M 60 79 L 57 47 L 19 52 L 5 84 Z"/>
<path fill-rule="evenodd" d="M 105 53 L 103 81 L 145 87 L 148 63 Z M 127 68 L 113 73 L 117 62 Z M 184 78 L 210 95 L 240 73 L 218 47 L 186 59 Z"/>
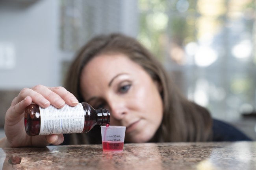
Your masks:
<path fill-rule="evenodd" d="M 189 142 L 210 141 L 212 118 L 208 110 L 195 102 L 189 101 L 180 93 L 161 63 L 135 38 L 122 34 L 99 35 L 91 39 L 78 52 L 72 62 L 65 88 L 79 102 L 85 102 L 80 91 L 82 69 L 93 58 L 100 54 L 122 53 L 139 64 L 153 80 L 161 86 L 163 101 L 163 120 L 153 139 L 154 142 Z M 94 129 L 94 128 L 93 128 Z M 101 143 L 100 130 L 73 134 L 71 144 Z"/>

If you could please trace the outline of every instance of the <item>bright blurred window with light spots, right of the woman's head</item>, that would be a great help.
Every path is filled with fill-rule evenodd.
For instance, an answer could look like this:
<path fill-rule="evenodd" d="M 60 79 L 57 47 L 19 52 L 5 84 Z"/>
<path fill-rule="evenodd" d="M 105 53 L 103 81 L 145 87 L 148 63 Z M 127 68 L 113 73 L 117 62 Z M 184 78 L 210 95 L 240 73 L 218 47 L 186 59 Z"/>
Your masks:
<path fill-rule="evenodd" d="M 138 38 L 213 117 L 256 107 L 253 0 L 139 0 Z"/>

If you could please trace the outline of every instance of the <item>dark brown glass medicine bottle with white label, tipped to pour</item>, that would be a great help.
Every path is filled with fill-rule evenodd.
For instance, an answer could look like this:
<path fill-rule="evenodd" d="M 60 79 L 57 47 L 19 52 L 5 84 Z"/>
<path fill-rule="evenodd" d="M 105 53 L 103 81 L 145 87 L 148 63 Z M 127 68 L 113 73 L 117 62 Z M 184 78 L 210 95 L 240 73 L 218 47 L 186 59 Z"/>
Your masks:
<path fill-rule="evenodd" d="M 25 130 L 30 136 L 86 133 L 96 124 L 106 125 L 109 122 L 109 110 L 95 110 L 86 102 L 77 106 L 65 104 L 61 109 L 52 105 L 41 108 L 31 104 L 26 107 L 24 115 Z"/>

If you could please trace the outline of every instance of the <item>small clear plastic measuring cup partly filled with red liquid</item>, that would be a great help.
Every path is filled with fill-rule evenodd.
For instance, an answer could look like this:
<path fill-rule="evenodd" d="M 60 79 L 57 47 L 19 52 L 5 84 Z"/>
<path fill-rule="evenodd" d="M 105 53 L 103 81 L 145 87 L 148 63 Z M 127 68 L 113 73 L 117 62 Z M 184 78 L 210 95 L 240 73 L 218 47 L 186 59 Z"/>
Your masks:
<path fill-rule="evenodd" d="M 124 149 L 125 126 L 100 126 L 103 151 Z"/>

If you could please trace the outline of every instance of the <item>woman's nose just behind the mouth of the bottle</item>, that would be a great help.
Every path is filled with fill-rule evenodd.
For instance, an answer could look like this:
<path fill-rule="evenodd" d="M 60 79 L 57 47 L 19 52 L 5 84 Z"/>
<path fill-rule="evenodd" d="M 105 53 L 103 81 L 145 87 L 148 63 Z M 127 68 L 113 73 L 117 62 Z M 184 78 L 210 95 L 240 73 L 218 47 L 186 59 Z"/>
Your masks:
<path fill-rule="evenodd" d="M 116 121 L 121 121 L 124 116 L 127 114 L 127 109 L 125 106 L 125 101 L 117 98 L 117 99 L 109 99 L 108 101 L 109 104 L 109 109 L 110 109 L 110 120 L 111 123 L 116 120 Z"/>

